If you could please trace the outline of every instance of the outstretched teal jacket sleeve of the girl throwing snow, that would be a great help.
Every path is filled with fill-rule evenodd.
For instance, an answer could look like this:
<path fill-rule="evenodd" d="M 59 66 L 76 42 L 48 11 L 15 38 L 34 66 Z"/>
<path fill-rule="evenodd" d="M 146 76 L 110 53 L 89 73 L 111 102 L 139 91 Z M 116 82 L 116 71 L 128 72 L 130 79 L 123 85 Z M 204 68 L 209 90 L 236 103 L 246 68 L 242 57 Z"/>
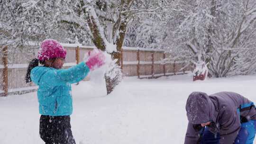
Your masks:
<path fill-rule="evenodd" d="M 66 83 L 76 83 L 81 81 L 87 76 L 90 69 L 88 66 L 81 62 L 69 69 L 61 69 L 61 70 L 50 70 L 44 74 L 44 80 L 49 86 L 58 86 L 64 85 Z"/>

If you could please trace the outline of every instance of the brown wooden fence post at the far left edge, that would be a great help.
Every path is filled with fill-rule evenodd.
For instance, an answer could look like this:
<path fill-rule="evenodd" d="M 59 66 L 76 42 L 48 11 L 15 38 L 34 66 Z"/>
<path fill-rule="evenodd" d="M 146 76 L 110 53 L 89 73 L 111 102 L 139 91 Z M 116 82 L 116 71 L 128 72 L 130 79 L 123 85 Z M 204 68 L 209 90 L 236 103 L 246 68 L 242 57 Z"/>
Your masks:
<path fill-rule="evenodd" d="M 4 90 L 4 96 L 8 95 L 8 48 L 5 46 L 2 50 L 3 52 L 3 90 Z"/>

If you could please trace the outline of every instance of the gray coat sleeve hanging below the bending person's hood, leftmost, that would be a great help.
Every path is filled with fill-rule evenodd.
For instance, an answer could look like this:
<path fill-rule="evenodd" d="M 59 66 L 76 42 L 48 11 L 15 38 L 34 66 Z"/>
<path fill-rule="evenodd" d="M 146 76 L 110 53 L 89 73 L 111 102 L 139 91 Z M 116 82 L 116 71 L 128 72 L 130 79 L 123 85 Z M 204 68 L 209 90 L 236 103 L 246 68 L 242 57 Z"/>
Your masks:
<path fill-rule="evenodd" d="M 193 128 L 193 124 L 189 122 L 184 144 L 197 144 L 199 138 L 200 138 L 200 131 L 196 131 Z"/>

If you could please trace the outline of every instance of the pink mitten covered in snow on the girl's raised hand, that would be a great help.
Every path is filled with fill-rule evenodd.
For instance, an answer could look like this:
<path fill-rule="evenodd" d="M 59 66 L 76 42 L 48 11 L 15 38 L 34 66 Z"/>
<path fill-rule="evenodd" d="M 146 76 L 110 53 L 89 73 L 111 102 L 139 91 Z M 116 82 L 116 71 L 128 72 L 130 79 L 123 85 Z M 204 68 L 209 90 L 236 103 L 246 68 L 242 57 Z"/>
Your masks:
<path fill-rule="evenodd" d="M 96 68 L 101 67 L 105 63 L 105 55 L 101 51 L 93 51 L 92 53 L 88 53 L 88 60 L 85 62 L 90 70 L 94 70 Z"/>

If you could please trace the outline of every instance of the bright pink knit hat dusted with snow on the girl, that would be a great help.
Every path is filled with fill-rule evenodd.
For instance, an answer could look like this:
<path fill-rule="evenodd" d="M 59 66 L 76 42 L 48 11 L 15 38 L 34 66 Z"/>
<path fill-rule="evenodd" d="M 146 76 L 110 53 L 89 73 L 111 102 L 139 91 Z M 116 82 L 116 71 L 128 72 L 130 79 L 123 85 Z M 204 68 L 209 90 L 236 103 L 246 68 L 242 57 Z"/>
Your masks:
<path fill-rule="evenodd" d="M 42 42 L 38 51 L 38 59 L 40 61 L 49 60 L 51 58 L 65 58 L 66 50 L 54 39 L 46 39 Z"/>

